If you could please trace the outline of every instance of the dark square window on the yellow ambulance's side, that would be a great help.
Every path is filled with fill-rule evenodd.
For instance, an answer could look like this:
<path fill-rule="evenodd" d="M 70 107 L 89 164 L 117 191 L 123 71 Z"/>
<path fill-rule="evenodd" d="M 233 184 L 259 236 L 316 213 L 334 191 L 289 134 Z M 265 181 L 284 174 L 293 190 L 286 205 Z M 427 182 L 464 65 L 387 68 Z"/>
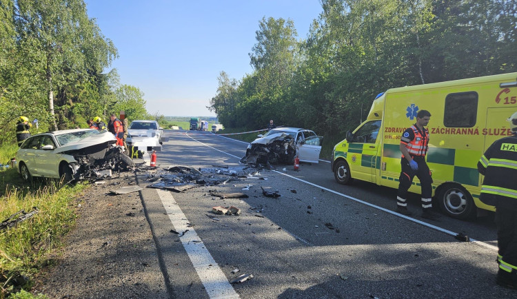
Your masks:
<path fill-rule="evenodd" d="M 474 127 L 474 125 L 476 125 L 477 113 L 477 92 L 447 94 L 445 98 L 443 124 L 445 127 Z"/>

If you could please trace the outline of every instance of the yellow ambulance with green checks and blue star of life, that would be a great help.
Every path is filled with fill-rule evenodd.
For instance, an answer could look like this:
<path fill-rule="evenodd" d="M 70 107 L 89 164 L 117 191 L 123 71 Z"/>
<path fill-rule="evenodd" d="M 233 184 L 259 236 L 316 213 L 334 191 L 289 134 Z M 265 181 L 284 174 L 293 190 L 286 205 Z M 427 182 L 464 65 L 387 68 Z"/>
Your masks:
<path fill-rule="evenodd" d="M 336 181 L 345 185 L 354 178 L 398 188 L 401 134 L 416 123 L 418 110 L 432 114 L 427 165 L 435 203 L 459 219 L 475 216 L 477 208 L 494 211 L 479 200 L 483 176 L 477 163 L 491 143 L 512 134 L 507 118 L 517 112 L 517 72 L 379 94 L 367 120 L 334 146 L 331 167 Z M 420 194 L 418 178 L 409 192 Z"/>

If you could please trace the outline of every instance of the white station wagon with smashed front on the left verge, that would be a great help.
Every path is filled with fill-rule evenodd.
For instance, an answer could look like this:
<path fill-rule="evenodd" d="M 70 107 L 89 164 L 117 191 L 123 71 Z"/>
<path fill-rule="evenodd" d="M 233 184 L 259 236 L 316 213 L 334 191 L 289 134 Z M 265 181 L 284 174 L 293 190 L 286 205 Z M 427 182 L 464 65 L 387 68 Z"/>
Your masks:
<path fill-rule="evenodd" d="M 110 132 L 92 129 L 36 134 L 18 150 L 17 170 L 25 181 L 32 176 L 73 181 L 105 176 L 105 170 L 134 167 L 132 159 L 115 142 Z"/>

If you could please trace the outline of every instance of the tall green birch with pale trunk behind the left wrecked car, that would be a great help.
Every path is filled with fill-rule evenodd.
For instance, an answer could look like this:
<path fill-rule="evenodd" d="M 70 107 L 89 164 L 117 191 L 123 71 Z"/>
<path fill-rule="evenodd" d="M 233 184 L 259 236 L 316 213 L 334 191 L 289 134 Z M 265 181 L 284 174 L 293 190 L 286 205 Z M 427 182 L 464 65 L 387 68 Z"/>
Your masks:
<path fill-rule="evenodd" d="M 48 111 L 57 130 L 55 92 L 65 92 L 68 83 L 100 74 L 116 58 L 116 48 L 88 18 L 83 0 L 7 1 L 12 2 L 19 48 L 30 49 L 40 65 L 34 80 L 44 82 Z"/>

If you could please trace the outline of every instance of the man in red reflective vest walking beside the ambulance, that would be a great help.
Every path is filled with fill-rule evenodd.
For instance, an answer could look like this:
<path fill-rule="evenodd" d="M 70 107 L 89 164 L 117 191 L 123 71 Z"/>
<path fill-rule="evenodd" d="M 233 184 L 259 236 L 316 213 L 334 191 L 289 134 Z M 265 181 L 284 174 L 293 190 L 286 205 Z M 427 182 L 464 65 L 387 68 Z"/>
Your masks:
<path fill-rule="evenodd" d="M 425 154 L 429 148 L 429 131 L 425 126 L 429 123 L 430 118 L 429 111 L 418 111 L 416 123 L 407 128 L 401 136 L 399 148 L 402 152 L 402 171 L 398 183 L 396 212 L 411 215 L 407 209 L 407 190 L 411 187 L 414 176 L 417 176 L 422 188 L 422 217 L 435 220 L 438 215 L 431 211 L 433 179 L 429 167 L 425 163 Z"/>

